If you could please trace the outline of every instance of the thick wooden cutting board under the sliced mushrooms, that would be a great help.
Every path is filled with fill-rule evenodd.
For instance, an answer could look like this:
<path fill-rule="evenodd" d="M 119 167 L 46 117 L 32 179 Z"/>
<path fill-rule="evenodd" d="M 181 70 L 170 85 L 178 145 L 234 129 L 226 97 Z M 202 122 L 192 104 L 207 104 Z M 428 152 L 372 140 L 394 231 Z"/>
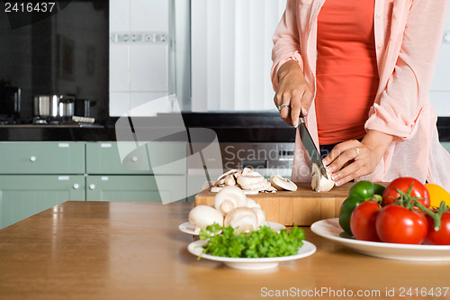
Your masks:
<path fill-rule="evenodd" d="M 340 205 L 346 200 L 350 187 L 355 183 L 334 186 L 329 192 L 315 192 L 311 183 L 297 183 L 294 192 L 259 193 L 247 195 L 266 212 L 266 220 L 282 223 L 285 226 L 310 226 L 312 223 L 335 218 L 339 215 Z M 196 205 L 214 205 L 214 196 L 210 190 L 195 195 Z"/>

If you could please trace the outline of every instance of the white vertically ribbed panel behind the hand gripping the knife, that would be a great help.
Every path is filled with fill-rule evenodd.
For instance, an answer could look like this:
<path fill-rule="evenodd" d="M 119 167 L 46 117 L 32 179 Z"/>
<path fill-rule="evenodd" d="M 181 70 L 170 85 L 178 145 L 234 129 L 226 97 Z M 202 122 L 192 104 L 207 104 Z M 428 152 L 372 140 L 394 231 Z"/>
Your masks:
<path fill-rule="evenodd" d="M 275 111 L 272 37 L 286 0 L 192 0 L 192 110 Z"/>

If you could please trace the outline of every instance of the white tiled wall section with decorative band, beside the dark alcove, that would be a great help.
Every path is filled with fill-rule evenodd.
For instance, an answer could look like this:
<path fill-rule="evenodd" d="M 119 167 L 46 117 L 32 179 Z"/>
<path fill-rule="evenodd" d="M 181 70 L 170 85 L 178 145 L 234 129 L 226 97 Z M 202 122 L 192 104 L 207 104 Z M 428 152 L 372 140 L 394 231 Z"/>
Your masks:
<path fill-rule="evenodd" d="M 168 30 L 169 0 L 110 0 L 111 116 L 168 94 Z M 166 106 L 139 114 L 157 112 Z"/>

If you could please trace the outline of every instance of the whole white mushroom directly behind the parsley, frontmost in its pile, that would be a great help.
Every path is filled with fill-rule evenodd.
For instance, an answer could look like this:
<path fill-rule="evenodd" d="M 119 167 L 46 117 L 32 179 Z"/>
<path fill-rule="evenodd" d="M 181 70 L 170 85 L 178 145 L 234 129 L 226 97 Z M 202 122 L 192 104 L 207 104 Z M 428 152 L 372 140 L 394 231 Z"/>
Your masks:
<path fill-rule="evenodd" d="M 258 228 L 257 213 L 250 207 L 238 207 L 233 209 L 225 216 L 223 225 L 225 227 L 231 226 L 237 232 L 256 231 Z"/>

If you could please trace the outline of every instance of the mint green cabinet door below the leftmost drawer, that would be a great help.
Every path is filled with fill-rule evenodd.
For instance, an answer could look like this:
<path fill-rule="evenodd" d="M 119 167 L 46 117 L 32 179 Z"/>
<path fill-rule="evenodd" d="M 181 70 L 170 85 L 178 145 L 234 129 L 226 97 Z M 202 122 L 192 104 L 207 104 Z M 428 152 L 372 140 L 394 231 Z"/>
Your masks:
<path fill-rule="evenodd" d="M 84 176 L 0 176 L 0 228 L 67 200 L 85 200 Z"/>

